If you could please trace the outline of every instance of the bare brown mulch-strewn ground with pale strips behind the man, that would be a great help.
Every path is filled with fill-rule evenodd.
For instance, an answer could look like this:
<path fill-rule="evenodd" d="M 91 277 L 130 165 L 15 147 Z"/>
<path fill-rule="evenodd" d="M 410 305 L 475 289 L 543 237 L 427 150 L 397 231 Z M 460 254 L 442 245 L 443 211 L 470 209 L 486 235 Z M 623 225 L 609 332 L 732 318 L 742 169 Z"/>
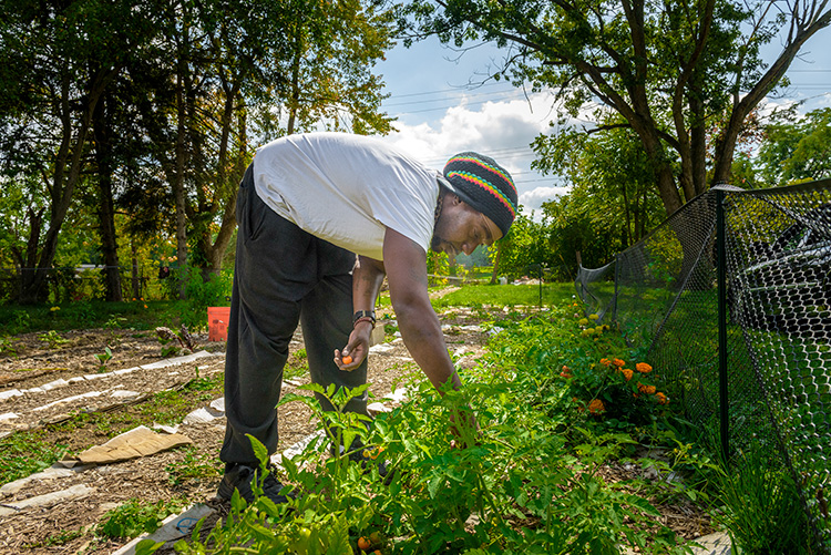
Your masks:
<path fill-rule="evenodd" d="M 478 319 L 456 309 L 443 314 L 442 323 L 450 349 L 468 353 L 459 364 L 475 363 L 488 340 L 488 335 L 476 327 Z M 195 337 L 195 356 L 165 359 L 153 331 L 91 329 L 60 333 L 60 338 L 51 336 L 51 345 L 49 339 L 43 333 L 18 336 L 0 353 L 0 436 L 16 430 L 39 430 L 45 441 L 66 445 L 64 459 L 71 459 L 130 430 L 132 417 L 146 421 L 147 411 L 157 410 L 152 403 L 154 393 L 161 391 L 188 392 L 183 395 L 179 414 L 197 409 L 203 409 L 204 414 L 207 409 L 207 414 L 216 418 L 176 422 L 177 433 L 189 439 L 195 449 L 172 449 L 122 462 L 81 465 L 80 470 L 62 471 L 68 473 L 65 476 L 32 480 L 19 484 L 19 489 L 6 484 L 0 489 L 0 554 L 113 553 L 127 539 L 96 537 L 94 527 L 107 511 L 130 500 L 142 503 L 181 500 L 185 508 L 207 503 L 222 512 L 214 494 L 219 480 L 218 451 L 225 418 L 215 409 L 220 405 L 214 403 L 212 408 L 212 402 L 222 397 L 224 343 L 207 342 L 206 336 Z M 289 367 L 301 370 L 302 359 L 297 357 L 297 350 L 302 347 L 302 338 L 298 333 L 295 339 Z M 368 381 L 370 393 L 377 399 L 388 395 L 404 374 L 418 370 L 400 339 L 386 345 L 388 350 L 370 356 Z M 107 347 L 112 359 L 102 367 L 96 356 Z M 299 373 L 290 379 L 289 376 L 291 371 L 287 370 L 289 381 L 284 391 L 301 393 L 297 386 L 307 382 L 308 376 Z M 215 387 L 193 389 L 194 380 L 204 383 L 213 380 Z M 89 422 L 79 425 L 78 414 L 88 415 Z M 71 415 L 75 415 L 74 424 L 64 425 Z M 161 412 L 158 417 L 163 420 Z M 280 410 L 279 451 L 316 431 L 317 422 L 310 417 L 302 403 Z M 215 479 L 174 483 L 175 470 L 193 465 L 195 459 L 213 465 Z M 620 472 L 611 469 L 609 477 Z M 63 492 L 64 497 L 27 506 L 31 500 L 54 492 Z M 665 524 L 687 538 L 709 532 L 708 518 L 693 506 L 664 510 Z"/>

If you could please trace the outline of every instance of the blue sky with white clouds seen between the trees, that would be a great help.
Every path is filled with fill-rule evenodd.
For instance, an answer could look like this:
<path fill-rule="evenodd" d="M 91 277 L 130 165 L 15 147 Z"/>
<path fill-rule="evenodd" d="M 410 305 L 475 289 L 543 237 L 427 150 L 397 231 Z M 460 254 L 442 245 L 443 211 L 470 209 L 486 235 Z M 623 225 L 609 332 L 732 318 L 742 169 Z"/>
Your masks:
<path fill-rule="evenodd" d="M 778 43 L 769 45 L 766 60 L 779 51 Z M 553 130 L 553 99 L 488 80 L 502 56 L 490 44 L 460 52 L 434 39 L 393 48 L 376 68 L 390 94 L 382 109 L 398 119 L 398 132 L 383 140 L 437 169 L 463 151 L 492 156 L 513 176 L 523 212 L 538 214 L 542 203 L 567 191 L 560 177 L 531 169 L 529 145 Z M 769 99 L 768 107 L 806 99 L 803 111 L 831 106 L 831 28 L 806 43 L 788 76 L 792 85 L 784 97 Z"/>

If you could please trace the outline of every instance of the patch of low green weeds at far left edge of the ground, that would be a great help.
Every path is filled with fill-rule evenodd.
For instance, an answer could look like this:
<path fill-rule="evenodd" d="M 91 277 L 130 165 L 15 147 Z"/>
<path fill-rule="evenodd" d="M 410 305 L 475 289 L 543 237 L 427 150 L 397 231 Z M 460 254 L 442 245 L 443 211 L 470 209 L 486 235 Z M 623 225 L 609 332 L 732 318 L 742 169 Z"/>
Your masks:
<path fill-rule="evenodd" d="M 13 482 L 60 461 L 66 446 L 51 444 L 43 431 L 14 432 L 0 439 L 0 484 Z"/>

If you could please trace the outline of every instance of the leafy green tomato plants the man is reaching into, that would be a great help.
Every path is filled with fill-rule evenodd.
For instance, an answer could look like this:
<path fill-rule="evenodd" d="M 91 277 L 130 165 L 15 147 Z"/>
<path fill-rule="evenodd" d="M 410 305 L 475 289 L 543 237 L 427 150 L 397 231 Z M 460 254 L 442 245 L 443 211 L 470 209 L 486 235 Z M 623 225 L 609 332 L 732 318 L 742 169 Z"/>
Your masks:
<path fill-rule="evenodd" d="M 404 383 L 409 400 L 377 417 L 370 429 L 363 417 L 343 411 L 366 388 L 305 388 L 329 399 L 332 411 L 322 411 L 312 397 L 286 395 L 281 405 L 305 403 L 320 422 L 318 439 L 281 461 L 280 480 L 301 495 L 281 506 L 263 497 L 248 506 L 235 496 L 230 514 L 207 541 L 194 533 L 176 549 L 204 553 L 209 545 L 224 553 L 245 545 L 259 553 L 351 555 L 360 553 L 358 538 L 369 537 L 372 549 L 399 554 L 612 554 L 622 545 L 689 553 L 656 522 L 657 510 L 639 493 L 656 486 L 638 480 L 609 484 L 602 476 L 609 460 L 642 440 L 574 411 L 568 384 L 553 369 L 566 361 L 588 369 L 602 351 L 627 350 L 612 335 L 582 335 L 574 310 L 568 301 L 544 318 L 507 312 L 492 323 L 502 331 L 463 376 L 463 391 L 438 392 L 413 374 Z M 463 417 L 471 409 L 475 428 Z M 673 439 L 666 432 L 649 441 L 675 445 Z M 362 461 L 350 461 L 348 450 L 331 455 L 331 444 L 352 445 L 351 458 L 360 453 Z M 265 470 L 266 449 L 254 445 Z M 378 473 L 380 461 L 387 463 L 386 480 Z"/>

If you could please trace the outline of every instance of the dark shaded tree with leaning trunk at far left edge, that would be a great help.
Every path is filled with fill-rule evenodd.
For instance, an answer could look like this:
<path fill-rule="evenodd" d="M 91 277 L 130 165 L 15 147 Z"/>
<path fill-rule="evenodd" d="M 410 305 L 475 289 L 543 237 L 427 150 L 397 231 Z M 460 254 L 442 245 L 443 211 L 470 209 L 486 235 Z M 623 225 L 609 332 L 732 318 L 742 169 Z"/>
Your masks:
<path fill-rule="evenodd" d="M 29 206 L 29 235 L 11 247 L 21 302 L 47 294 L 93 114 L 137 47 L 142 34 L 135 31 L 154 24 L 152 10 L 134 8 L 104 0 L 0 2 L 0 84 L 8 92 L 0 101 L 0 152 L 7 175 L 29 184 L 37 175 L 47 189 L 45 197 L 31 195 L 33 203 L 44 202 Z"/>

